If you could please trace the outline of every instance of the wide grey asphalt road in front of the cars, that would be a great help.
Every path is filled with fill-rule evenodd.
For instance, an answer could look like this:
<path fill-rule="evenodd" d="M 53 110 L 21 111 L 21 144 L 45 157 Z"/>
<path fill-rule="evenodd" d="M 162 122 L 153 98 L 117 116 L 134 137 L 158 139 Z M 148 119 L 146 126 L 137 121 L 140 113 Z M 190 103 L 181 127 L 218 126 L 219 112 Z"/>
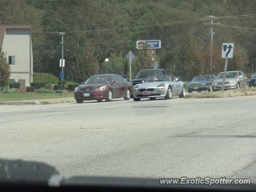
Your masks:
<path fill-rule="evenodd" d="M 255 96 L 0 106 L 0 158 L 65 178 L 251 177 Z"/>

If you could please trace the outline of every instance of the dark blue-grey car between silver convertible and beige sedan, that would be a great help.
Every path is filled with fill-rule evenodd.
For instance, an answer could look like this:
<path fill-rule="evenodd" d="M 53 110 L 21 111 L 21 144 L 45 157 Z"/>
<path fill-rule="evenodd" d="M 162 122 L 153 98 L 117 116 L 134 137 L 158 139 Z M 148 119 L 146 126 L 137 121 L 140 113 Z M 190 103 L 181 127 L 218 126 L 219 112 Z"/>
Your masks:
<path fill-rule="evenodd" d="M 208 90 L 209 92 L 212 91 L 212 82 L 216 80 L 215 75 L 200 75 L 195 76 L 192 81 L 188 83 L 188 92 L 191 93 L 192 91 L 201 92 L 203 90 Z"/>

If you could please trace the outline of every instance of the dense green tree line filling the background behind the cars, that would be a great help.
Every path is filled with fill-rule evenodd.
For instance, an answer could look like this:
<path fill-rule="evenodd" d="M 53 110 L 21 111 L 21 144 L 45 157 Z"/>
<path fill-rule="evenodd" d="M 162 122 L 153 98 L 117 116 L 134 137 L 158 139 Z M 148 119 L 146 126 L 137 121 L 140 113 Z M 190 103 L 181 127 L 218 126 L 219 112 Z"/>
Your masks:
<path fill-rule="evenodd" d="M 156 50 L 159 68 L 183 80 L 223 71 L 222 42 L 235 43 L 228 70 L 243 70 L 247 76 L 255 72 L 255 30 L 214 26 L 211 71 L 210 26 L 205 25 L 210 22 L 206 19 L 209 15 L 254 14 L 254 0 L 0 0 L 0 4 L 0 24 L 32 26 L 34 72 L 56 76 L 60 72 L 61 35 L 40 32 L 66 32 L 64 72 L 65 78 L 74 82 L 106 71 L 121 74 L 124 70 L 129 75 L 125 58 L 129 50 L 136 56 L 132 76 L 143 68 L 152 68 L 152 56 L 137 50 L 136 40 L 154 39 L 162 43 Z M 256 28 L 255 19 L 214 22 Z M 108 63 L 105 58 L 109 58 Z"/>

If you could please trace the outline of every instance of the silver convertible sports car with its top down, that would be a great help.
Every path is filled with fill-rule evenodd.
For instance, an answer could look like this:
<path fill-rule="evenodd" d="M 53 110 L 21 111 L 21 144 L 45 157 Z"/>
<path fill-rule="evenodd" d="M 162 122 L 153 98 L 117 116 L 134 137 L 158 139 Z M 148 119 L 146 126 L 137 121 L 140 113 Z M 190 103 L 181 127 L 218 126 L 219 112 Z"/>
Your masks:
<path fill-rule="evenodd" d="M 186 86 L 179 78 L 173 81 L 170 75 L 150 76 L 145 82 L 136 84 L 132 88 L 132 94 L 134 101 L 141 98 L 155 100 L 157 97 L 171 99 L 172 96 L 183 98 L 186 96 Z"/>

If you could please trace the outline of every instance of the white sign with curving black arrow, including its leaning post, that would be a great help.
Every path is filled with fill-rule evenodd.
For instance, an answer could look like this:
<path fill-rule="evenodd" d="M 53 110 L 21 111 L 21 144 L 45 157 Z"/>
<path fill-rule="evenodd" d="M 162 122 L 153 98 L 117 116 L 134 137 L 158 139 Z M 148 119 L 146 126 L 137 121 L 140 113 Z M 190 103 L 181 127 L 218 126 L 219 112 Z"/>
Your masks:
<path fill-rule="evenodd" d="M 222 43 L 221 58 L 225 58 L 225 67 L 224 67 L 221 92 L 224 92 L 226 72 L 227 72 L 227 67 L 228 67 L 228 59 L 233 58 L 233 56 L 234 56 L 234 46 L 235 46 L 234 43 Z"/>

